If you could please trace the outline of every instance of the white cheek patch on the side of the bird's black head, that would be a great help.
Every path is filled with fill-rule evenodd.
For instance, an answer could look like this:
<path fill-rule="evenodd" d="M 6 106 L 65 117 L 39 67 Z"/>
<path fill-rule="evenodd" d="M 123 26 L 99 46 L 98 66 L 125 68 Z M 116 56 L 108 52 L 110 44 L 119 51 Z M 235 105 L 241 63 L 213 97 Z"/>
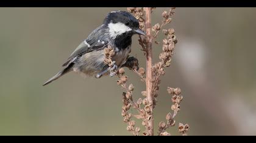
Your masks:
<path fill-rule="evenodd" d="M 108 24 L 108 28 L 109 28 L 110 36 L 112 36 L 113 38 L 132 30 L 130 27 L 127 27 L 126 25 L 124 25 L 121 22 L 118 22 L 115 24 L 110 23 L 110 24 Z"/>

